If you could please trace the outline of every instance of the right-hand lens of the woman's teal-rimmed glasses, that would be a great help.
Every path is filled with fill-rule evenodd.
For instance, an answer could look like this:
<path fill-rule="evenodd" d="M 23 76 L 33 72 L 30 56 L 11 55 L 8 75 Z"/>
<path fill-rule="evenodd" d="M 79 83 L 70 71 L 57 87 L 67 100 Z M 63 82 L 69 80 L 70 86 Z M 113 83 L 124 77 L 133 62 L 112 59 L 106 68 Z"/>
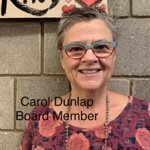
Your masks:
<path fill-rule="evenodd" d="M 97 43 L 94 45 L 94 52 L 98 57 L 106 57 L 113 51 L 112 43 Z"/>

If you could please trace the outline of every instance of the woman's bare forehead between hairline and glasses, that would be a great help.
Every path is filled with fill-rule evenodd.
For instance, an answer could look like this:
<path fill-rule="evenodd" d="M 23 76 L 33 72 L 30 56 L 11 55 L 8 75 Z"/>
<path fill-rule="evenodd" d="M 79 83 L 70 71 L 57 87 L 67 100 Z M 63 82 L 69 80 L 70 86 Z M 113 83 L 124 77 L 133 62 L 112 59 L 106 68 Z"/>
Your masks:
<path fill-rule="evenodd" d="M 113 40 L 111 30 L 102 20 L 98 19 L 76 23 L 64 34 L 64 44 L 77 41 L 92 43 L 97 40 Z"/>

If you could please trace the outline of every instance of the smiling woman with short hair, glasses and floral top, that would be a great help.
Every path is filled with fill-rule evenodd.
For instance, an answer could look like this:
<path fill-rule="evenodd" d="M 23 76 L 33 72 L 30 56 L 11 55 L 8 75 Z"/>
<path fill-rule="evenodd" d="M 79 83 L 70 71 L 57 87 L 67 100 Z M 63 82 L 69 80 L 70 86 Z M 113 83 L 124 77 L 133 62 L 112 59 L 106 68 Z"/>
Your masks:
<path fill-rule="evenodd" d="M 27 123 L 22 150 L 150 149 L 150 103 L 108 90 L 116 41 L 102 11 L 78 8 L 61 19 L 58 49 L 71 92 L 33 110 L 49 118 Z"/>

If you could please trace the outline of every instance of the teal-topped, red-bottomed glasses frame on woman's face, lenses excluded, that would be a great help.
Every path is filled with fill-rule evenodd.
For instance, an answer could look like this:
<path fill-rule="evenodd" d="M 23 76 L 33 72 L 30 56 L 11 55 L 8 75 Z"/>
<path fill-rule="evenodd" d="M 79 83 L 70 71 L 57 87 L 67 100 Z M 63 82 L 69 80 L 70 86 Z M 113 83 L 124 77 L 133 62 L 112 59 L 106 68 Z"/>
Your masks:
<path fill-rule="evenodd" d="M 90 44 L 90 45 L 86 45 L 86 44 L 80 43 L 80 42 L 75 42 L 75 43 L 71 43 L 71 44 L 65 44 L 65 45 L 63 46 L 63 49 L 64 49 L 66 55 L 67 55 L 68 57 L 70 57 L 70 58 L 73 58 L 73 59 L 80 59 L 80 58 L 83 58 L 84 55 L 86 54 L 87 50 L 92 50 L 93 53 L 94 53 L 94 55 L 95 55 L 96 57 L 98 57 L 98 58 L 105 58 L 105 57 L 108 57 L 108 56 L 99 57 L 99 56 L 96 55 L 96 53 L 95 53 L 95 51 L 94 51 L 94 46 L 97 45 L 98 43 L 101 43 L 101 44 L 105 44 L 105 43 L 109 43 L 109 44 L 110 44 L 110 43 L 111 43 L 111 44 L 112 44 L 112 48 L 113 48 L 113 49 L 112 49 L 112 52 L 111 52 L 108 56 L 110 56 L 110 55 L 114 52 L 114 49 L 117 47 L 117 42 L 115 42 L 115 41 L 98 41 L 98 42 L 95 42 L 95 43 Z M 75 44 L 79 44 L 79 45 L 81 45 L 81 46 L 84 47 L 85 51 L 84 51 L 83 56 L 78 57 L 78 58 L 74 58 L 74 57 L 71 57 L 71 55 L 68 55 L 68 53 L 67 53 L 68 48 L 69 48 L 70 46 L 75 45 Z"/>

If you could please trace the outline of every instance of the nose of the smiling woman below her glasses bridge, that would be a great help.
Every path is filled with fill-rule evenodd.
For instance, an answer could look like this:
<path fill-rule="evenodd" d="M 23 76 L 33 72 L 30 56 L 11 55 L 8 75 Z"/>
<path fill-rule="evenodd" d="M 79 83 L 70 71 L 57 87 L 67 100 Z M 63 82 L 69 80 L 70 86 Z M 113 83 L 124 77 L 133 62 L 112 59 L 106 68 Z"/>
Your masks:
<path fill-rule="evenodd" d="M 98 57 L 94 54 L 92 49 L 87 49 L 85 55 L 82 57 L 82 61 L 96 62 Z"/>

